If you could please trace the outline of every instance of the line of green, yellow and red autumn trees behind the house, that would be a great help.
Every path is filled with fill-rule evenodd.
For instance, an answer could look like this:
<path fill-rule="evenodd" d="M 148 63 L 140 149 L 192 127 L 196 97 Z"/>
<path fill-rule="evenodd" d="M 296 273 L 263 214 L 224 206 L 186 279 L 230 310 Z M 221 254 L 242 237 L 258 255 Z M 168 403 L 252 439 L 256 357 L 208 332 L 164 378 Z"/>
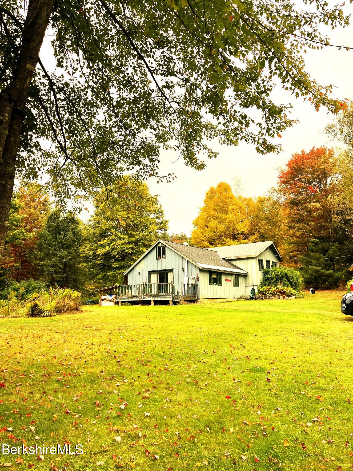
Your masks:
<path fill-rule="evenodd" d="M 168 221 L 146 183 L 120 178 L 96 193 L 87 223 L 54 206 L 39 184 L 14 193 L 1 261 L 0 288 L 24 280 L 93 293 L 123 283 L 123 272 L 157 238 L 199 247 L 273 240 L 283 263 L 305 283 L 332 288 L 353 261 L 353 104 L 326 128 L 344 149 L 313 147 L 292 155 L 268 194 L 241 195 L 239 179 L 210 187 L 190 236 L 168 233 Z"/>

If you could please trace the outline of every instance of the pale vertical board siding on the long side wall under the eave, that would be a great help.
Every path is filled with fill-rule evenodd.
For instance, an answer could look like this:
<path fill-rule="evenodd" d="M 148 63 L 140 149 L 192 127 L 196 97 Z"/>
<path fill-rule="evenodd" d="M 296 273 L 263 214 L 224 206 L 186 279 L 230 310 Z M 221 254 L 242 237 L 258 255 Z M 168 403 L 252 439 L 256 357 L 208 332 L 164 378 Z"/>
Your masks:
<path fill-rule="evenodd" d="M 221 273 L 221 278 L 221 286 L 209 284 L 209 270 L 200 270 L 202 299 L 238 299 L 245 297 L 245 276 L 239 275 L 239 287 L 233 286 L 233 273 Z M 231 281 L 225 281 L 226 279 Z"/>

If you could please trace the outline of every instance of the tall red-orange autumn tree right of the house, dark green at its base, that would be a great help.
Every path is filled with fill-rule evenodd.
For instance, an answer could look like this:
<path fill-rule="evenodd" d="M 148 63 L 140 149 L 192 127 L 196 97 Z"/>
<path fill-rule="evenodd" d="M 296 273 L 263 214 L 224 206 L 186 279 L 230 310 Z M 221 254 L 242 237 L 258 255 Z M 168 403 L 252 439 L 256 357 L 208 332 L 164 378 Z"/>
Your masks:
<path fill-rule="evenodd" d="M 346 276 L 352 253 L 351 212 L 343 189 L 352 177 L 333 149 L 313 147 L 289 159 L 280 171 L 278 191 L 289 213 L 293 256 L 304 266 L 307 284 L 335 286 Z"/>

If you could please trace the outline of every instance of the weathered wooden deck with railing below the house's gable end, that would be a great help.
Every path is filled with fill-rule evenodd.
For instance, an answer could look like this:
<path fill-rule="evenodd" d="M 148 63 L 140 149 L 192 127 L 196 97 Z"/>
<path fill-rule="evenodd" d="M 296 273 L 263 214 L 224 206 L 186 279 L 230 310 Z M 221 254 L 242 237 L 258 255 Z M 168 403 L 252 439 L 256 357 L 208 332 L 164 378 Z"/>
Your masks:
<path fill-rule="evenodd" d="M 130 301 L 149 301 L 154 305 L 154 301 L 169 301 L 169 304 L 181 304 L 187 301 L 197 300 L 196 284 L 181 284 L 180 290 L 173 283 L 142 283 L 142 284 L 122 284 L 108 286 L 98 290 L 100 292 L 100 305 L 110 303 L 111 305 Z M 115 294 L 114 301 L 102 301 L 102 293 Z"/>

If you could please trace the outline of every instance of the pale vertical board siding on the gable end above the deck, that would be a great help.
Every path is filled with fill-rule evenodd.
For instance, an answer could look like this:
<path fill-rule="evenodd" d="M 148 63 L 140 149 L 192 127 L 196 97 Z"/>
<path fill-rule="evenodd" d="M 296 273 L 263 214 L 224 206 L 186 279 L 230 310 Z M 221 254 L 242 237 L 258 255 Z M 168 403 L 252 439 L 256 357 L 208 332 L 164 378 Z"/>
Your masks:
<path fill-rule="evenodd" d="M 148 272 L 158 270 L 173 270 L 174 286 L 180 290 L 181 282 L 184 283 L 185 258 L 165 245 L 166 256 L 164 259 L 156 258 L 156 247 L 146 253 L 144 257 L 128 272 L 128 284 L 149 283 Z M 138 274 L 140 272 L 140 275 Z M 187 276 L 196 276 L 198 268 L 193 263 L 187 263 Z M 197 281 L 196 281 L 197 284 Z M 199 290 L 198 286 L 198 290 Z M 200 297 L 200 292 L 198 293 Z"/>

